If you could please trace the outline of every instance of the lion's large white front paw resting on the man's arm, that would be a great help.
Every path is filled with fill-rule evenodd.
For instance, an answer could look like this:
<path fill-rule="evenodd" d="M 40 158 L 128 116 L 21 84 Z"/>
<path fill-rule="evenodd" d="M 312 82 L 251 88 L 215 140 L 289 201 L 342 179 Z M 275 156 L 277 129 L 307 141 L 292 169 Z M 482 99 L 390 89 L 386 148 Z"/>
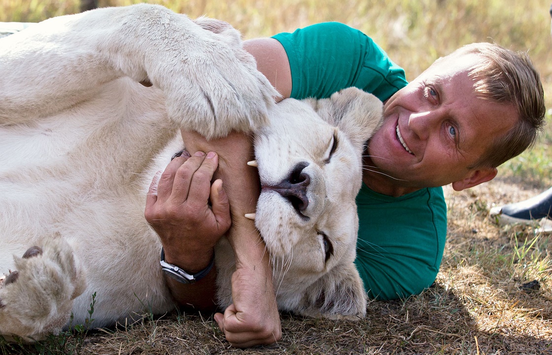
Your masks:
<path fill-rule="evenodd" d="M 198 23 L 195 35 L 179 41 L 182 57 L 161 63 L 156 73 L 169 117 L 208 139 L 266 126 L 278 92 L 257 71 L 236 30 L 213 20 Z"/>

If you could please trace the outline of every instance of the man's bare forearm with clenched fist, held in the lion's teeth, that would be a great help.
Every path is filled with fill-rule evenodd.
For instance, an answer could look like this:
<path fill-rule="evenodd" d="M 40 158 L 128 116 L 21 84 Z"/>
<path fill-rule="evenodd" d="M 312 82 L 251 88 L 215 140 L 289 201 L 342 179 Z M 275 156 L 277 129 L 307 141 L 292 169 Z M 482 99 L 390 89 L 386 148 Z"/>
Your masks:
<path fill-rule="evenodd" d="M 282 336 L 272 269 L 254 222 L 245 218 L 245 214 L 255 211 L 260 192 L 257 168 L 247 165 L 254 158 L 252 140 L 245 134 L 232 133 L 213 144 L 209 149 L 219 152 L 219 177 L 230 200 L 232 226 L 228 239 L 236 257 L 233 303 L 224 314 L 215 314 L 215 320 L 232 346 L 270 344 Z"/>

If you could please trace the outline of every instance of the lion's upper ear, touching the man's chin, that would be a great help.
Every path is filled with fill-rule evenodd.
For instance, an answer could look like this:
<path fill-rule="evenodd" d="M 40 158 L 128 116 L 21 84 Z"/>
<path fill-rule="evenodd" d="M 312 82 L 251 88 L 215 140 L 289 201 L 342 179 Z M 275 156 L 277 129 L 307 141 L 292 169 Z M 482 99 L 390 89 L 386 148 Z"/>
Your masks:
<path fill-rule="evenodd" d="M 383 118 L 383 103 L 358 88 L 343 89 L 329 99 L 311 103 L 323 120 L 337 126 L 357 147 L 370 139 Z"/>

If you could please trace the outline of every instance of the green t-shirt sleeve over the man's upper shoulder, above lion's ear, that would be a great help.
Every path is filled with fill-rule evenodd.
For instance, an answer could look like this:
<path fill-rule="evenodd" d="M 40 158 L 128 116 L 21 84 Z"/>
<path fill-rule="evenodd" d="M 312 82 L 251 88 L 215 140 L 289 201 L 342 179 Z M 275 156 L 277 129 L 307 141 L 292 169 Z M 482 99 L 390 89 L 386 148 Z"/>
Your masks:
<path fill-rule="evenodd" d="M 385 51 L 347 25 L 321 23 L 273 38 L 288 55 L 293 98 L 326 98 L 357 87 L 383 101 L 407 84 L 404 70 Z"/>

